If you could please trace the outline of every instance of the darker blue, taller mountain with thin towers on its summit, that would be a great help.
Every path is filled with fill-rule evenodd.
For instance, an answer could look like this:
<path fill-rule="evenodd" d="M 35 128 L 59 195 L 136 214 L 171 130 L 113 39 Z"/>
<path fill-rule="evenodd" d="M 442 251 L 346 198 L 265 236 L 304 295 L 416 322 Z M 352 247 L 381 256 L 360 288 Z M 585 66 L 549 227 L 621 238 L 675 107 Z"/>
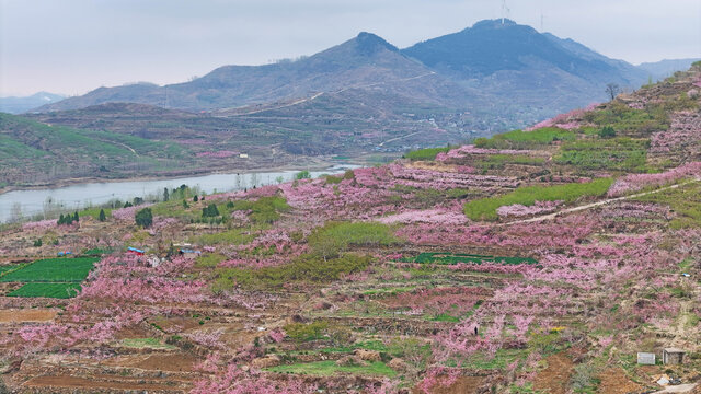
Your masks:
<path fill-rule="evenodd" d="M 482 21 L 402 53 L 497 100 L 562 111 L 605 100 L 607 83 L 635 89 L 647 78 L 625 61 L 509 20 Z"/>

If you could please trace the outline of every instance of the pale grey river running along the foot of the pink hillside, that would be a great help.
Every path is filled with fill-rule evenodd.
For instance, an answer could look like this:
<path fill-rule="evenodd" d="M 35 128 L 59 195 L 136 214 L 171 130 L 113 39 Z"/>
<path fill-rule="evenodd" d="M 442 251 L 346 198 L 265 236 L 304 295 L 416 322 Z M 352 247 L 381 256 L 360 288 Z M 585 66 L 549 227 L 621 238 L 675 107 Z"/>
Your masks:
<path fill-rule="evenodd" d="M 323 174 L 338 174 L 358 165 L 334 165 L 324 171 L 310 171 L 312 177 Z M 56 188 L 14 190 L 0 195 L 0 222 L 7 222 L 21 212 L 23 217 L 34 217 L 44 212 L 47 201 L 66 210 L 79 210 L 99 206 L 113 199 L 128 201 L 134 197 L 162 195 L 163 188 L 173 189 L 180 185 L 199 187 L 202 192 L 232 192 L 255 186 L 276 184 L 280 178 L 291 181 L 299 171 L 254 172 L 244 174 L 211 174 L 152 181 L 95 182 Z"/>

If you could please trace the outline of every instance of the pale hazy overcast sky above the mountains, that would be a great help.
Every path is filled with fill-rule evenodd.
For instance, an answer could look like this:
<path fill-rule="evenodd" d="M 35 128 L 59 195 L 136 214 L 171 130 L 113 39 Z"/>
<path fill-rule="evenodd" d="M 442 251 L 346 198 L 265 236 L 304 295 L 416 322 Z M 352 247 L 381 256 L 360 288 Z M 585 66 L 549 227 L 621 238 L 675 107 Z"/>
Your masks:
<path fill-rule="evenodd" d="M 506 0 L 521 24 L 632 63 L 701 57 L 700 0 Z M 0 96 L 184 82 L 313 55 L 361 31 L 403 48 L 502 0 L 0 0 Z"/>

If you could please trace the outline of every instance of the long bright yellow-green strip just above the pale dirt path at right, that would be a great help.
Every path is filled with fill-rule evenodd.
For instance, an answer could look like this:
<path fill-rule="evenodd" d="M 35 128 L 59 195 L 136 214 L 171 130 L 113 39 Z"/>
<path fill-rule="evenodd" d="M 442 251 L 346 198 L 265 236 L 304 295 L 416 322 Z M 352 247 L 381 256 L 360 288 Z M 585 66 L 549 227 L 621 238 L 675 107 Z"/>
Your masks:
<path fill-rule="evenodd" d="M 556 186 L 520 187 L 512 193 L 497 197 L 487 197 L 469 201 L 463 211 L 471 220 L 496 220 L 496 210 L 503 206 L 520 204 L 532 206 L 536 201 L 574 202 L 582 197 L 599 197 L 608 192 L 613 179 L 600 178 L 589 183 L 573 183 Z"/>

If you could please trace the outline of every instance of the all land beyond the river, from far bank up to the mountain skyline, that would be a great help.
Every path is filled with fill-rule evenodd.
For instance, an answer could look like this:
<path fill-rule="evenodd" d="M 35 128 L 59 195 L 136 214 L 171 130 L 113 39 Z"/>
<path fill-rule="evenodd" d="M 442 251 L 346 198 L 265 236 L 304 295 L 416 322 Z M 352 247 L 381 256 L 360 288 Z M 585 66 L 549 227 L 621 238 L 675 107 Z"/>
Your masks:
<path fill-rule="evenodd" d="M 630 92 L 676 63 L 666 65 L 637 68 L 509 20 L 404 49 L 363 32 L 295 61 L 99 88 L 1 114 L 0 188 L 310 169 L 334 158 L 382 164 L 586 108 L 606 100 L 608 84 Z"/>

